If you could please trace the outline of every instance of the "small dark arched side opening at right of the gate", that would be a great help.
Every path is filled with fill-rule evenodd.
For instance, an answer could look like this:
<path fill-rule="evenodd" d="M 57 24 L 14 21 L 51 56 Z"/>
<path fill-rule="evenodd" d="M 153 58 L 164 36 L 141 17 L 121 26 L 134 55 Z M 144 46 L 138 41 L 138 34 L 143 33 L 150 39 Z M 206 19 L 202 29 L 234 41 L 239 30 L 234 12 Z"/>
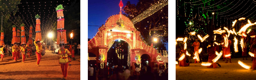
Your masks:
<path fill-rule="evenodd" d="M 141 55 L 141 67 L 144 66 L 151 66 L 151 60 L 148 54 Z"/>

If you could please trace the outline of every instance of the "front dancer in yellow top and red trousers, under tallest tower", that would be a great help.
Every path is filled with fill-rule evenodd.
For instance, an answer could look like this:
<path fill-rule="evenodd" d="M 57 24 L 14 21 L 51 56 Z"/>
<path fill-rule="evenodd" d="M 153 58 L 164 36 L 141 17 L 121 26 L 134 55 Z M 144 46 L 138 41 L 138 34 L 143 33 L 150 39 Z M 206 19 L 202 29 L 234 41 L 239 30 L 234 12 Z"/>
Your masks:
<path fill-rule="evenodd" d="M 58 50 L 58 55 L 61 56 L 61 58 L 59 58 L 59 64 L 61 64 L 61 71 L 62 71 L 62 75 L 63 78 L 66 79 L 67 78 L 67 66 L 69 64 L 69 55 L 72 55 L 69 50 L 64 48 L 64 44 L 60 44 L 61 49 Z"/>

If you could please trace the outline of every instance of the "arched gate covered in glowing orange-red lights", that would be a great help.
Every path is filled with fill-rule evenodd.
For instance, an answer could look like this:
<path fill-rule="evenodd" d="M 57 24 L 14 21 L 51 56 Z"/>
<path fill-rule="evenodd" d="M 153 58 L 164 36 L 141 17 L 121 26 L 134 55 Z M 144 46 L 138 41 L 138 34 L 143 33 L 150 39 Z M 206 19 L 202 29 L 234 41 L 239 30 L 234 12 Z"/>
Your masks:
<path fill-rule="evenodd" d="M 114 43 L 114 40 L 121 39 L 130 46 L 130 65 L 128 66 L 135 68 L 134 63 L 140 61 L 135 60 L 135 56 L 137 55 L 138 59 L 140 59 L 143 54 L 150 56 L 150 63 L 159 64 L 156 57 L 160 54 L 155 48 L 146 43 L 128 17 L 122 14 L 113 15 L 98 30 L 96 35 L 88 41 L 88 52 L 96 53 L 97 60 L 100 55 L 104 55 L 101 63 L 107 63 L 107 51 Z"/>

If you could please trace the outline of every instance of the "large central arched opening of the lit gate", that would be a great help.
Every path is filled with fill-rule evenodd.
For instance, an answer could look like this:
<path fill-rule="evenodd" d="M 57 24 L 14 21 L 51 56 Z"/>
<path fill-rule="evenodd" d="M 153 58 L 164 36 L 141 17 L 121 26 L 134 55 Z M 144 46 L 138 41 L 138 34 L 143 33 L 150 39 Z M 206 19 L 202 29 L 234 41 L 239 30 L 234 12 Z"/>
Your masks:
<path fill-rule="evenodd" d="M 129 50 L 130 46 L 125 40 L 116 39 L 107 52 L 107 65 L 127 66 L 130 60 Z"/>

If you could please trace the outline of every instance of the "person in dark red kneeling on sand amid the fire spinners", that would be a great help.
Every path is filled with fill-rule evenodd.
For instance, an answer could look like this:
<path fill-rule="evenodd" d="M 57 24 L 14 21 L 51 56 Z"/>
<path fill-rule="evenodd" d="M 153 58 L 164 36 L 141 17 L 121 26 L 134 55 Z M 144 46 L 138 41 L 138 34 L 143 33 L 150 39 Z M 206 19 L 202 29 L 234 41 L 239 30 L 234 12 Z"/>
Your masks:
<path fill-rule="evenodd" d="M 209 63 L 212 63 L 212 60 L 216 57 L 216 55 L 215 55 L 216 47 L 213 46 L 213 41 L 211 41 L 210 44 L 211 44 L 211 46 L 207 48 L 207 53 L 208 53 L 208 55 L 209 55 L 209 57 L 208 57 L 208 62 L 209 62 Z M 213 67 L 213 68 L 217 68 L 217 65 L 220 66 L 219 63 L 214 62 L 214 63 L 212 63 L 212 65 L 207 66 L 207 68 L 212 68 L 212 67 Z M 221 67 L 221 66 L 220 66 L 220 67 Z"/>

